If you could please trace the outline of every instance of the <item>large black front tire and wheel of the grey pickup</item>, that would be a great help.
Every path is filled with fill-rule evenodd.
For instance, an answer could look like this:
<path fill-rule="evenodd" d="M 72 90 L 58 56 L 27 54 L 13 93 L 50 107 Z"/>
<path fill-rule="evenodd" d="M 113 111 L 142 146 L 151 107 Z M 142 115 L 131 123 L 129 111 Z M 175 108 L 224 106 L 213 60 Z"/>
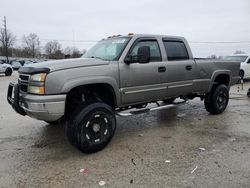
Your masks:
<path fill-rule="evenodd" d="M 114 111 L 102 102 L 79 105 L 66 121 L 68 140 L 83 153 L 102 150 L 111 141 L 115 129 Z"/>

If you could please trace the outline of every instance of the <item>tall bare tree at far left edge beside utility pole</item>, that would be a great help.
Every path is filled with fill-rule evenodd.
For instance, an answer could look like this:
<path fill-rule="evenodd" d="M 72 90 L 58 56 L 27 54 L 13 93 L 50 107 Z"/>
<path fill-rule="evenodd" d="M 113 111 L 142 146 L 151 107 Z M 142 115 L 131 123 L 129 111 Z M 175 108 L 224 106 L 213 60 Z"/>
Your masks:
<path fill-rule="evenodd" d="M 9 31 L 5 29 L 0 29 L 0 46 L 2 48 L 2 55 L 6 56 L 8 60 L 10 49 L 16 42 L 16 37 Z"/>

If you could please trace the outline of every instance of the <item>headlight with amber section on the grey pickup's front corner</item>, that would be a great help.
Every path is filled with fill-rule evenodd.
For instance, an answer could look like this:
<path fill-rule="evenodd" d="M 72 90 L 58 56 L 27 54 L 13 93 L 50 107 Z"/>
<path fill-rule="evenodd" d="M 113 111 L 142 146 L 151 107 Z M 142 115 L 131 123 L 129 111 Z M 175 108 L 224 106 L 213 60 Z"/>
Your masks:
<path fill-rule="evenodd" d="M 45 78 L 46 73 L 34 74 L 30 76 L 28 93 L 31 94 L 45 94 Z"/>

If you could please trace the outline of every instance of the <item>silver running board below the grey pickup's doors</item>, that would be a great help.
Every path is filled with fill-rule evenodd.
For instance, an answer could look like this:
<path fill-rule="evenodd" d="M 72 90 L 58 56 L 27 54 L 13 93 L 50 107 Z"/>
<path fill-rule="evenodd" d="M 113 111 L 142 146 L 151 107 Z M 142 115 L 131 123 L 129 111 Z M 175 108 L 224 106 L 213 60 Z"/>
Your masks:
<path fill-rule="evenodd" d="M 181 105 L 181 104 L 186 104 L 186 103 L 188 103 L 188 100 L 184 100 L 184 101 L 181 101 L 181 102 L 174 102 L 172 104 L 161 105 L 161 106 L 157 106 L 157 107 L 153 107 L 153 108 L 143 108 L 143 109 L 139 109 L 139 110 L 131 110 L 129 112 L 116 112 L 116 115 L 122 116 L 122 117 L 127 117 L 127 116 L 152 112 L 152 111 L 155 111 L 155 110 L 162 110 L 162 109 L 172 108 L 174 106 Z"/>

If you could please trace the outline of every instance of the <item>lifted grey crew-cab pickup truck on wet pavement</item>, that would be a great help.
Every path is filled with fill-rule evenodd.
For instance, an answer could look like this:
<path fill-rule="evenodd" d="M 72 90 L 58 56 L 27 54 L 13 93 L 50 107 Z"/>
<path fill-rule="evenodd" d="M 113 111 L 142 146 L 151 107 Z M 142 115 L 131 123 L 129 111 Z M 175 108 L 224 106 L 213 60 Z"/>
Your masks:
<path fill-rule="evenodd" d="M 239 70 L 240 62 L 194 59 L 183 37 L 119 35 L 99 41 L 79 59 L 21 67 L 7 99 L 21 115 L 49 123 L 63 119 L 70 143 L 92 153 L 111 141 L 116 115 L 195 97 L 204 99 L 209 113 L 222 113 Z"/>

